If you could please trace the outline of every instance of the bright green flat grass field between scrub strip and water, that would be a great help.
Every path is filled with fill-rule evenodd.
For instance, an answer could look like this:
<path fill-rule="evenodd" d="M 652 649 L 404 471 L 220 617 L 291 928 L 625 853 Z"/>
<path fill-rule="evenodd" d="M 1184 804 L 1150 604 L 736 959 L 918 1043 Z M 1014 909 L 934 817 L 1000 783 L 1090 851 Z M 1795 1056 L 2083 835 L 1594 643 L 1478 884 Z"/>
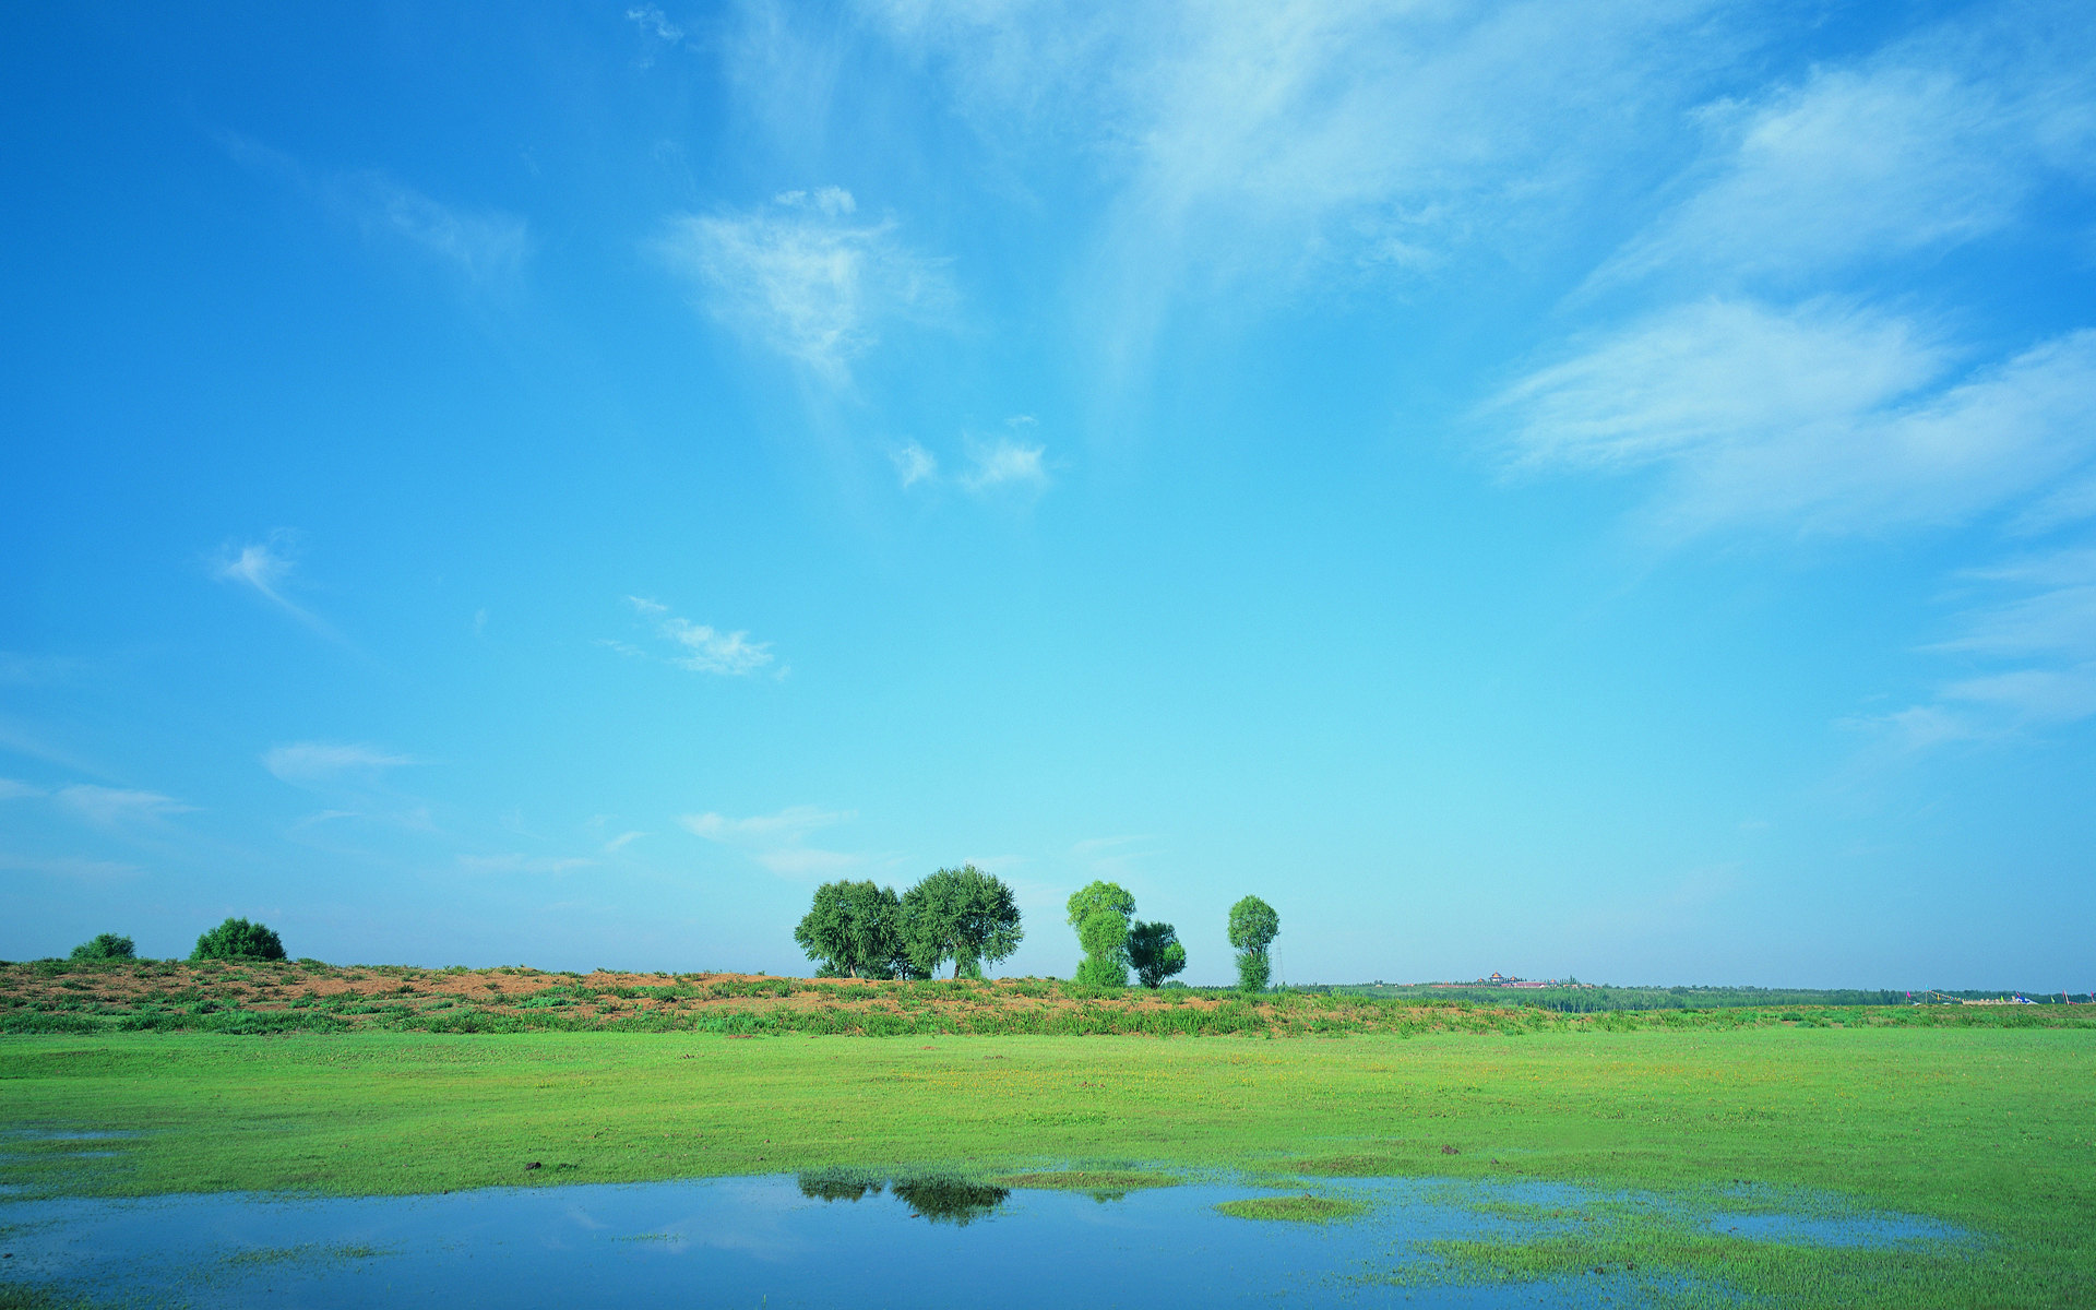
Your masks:
<path fill-rule="evenodd" d="M 96 1159 L 78 1142 L 10 1142 L 0 1182 L 46 1195 L 826 1167 L 1572 1180 L 1637 1193 L 1534 1243 L 1444 1249 L 1446 1276 L 1620 1262 L 1784 1306 L 2096 1304 L 2086 1027 L 21 1035 L 0 1038 L 0 1123 L 138 1134 L 92 1142 L 115 1151 Z M 1668 1220 L 1647 1195 L 1830 1197 L 1943 1220 L 1979 1245 L 1740 1243 Z"/>

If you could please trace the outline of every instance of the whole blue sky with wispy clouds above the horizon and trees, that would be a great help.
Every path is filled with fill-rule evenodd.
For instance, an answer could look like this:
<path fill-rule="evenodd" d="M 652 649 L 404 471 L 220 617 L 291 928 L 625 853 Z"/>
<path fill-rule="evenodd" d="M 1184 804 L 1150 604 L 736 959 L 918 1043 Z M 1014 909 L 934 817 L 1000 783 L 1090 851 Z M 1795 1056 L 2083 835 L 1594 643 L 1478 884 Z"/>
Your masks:
<path fill-rule="evenodd" d="M 0 956 L 2096 985 L 2073 4 L 0 23 Z"/>

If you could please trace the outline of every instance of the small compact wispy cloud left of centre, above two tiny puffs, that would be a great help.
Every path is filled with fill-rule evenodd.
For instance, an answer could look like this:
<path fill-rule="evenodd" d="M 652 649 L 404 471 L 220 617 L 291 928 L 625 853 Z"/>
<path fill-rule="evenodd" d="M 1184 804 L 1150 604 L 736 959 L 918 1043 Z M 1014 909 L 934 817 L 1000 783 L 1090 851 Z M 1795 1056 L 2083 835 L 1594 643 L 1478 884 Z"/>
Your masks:
<path fill-rule="evenodd" d="M 679 214 L 656 249 L 727 327 L 847 386 L 891 323 L 941 321 L 945 262 L 903 245 L 895 220 L 857 218 L 840 187 L 786 191 L 742 212 Z"/>

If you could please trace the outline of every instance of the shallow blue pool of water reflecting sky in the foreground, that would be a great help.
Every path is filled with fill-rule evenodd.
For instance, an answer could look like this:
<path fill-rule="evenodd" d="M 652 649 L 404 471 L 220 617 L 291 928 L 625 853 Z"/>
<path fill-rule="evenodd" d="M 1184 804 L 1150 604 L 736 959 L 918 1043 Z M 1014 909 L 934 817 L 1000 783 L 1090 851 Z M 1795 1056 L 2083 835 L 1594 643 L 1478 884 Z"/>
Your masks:
<path fill-rule="evenodd" d="M 1094 1176 L 1038 1176 L 1065 1184 Z M 1136 1176 L 1130 1176 L 1134 1180 Z M 1019 1182 L 1012 1178 L 1008 1182 Z M 1438 1243 L 1562 1239 L 1610 1207 L 1677 1205 L 1562 1184 L 1335 1178 L 1295 1182 L 1360 1205 L 1331 1224 L 1256 1222 L 1216 1207 L 1272 1193 L 1172 1182 L 1094 1203 L 949 1174 L 826 1170 L 708 1182 L 524 1186 L 442 1197 L 0 1199 L 8 1281 L 119 1304 L 212 1306 L 1614 1306 L 1685 1289 L 1608 1268 L 1580 1279 L 1450 1283 Z M 1899 1216 L 1725 1214 L 1746 1241 L 1909 1241 Z M 1574 1214 L 1576 1211 L 1576 1214 Z M 1574 1216 L 1574 1218 L 1566 1218 Z M 1717 1216 L 1683 1211 L 1683 1224 Z M 1836 1216 L 1838 1218 L 1838 1216 Z M 1956 1237 L 1956 1235 L 1951 1235 Z M 1012 1279 L 1012 1270 L 1027 1270 Z M 34 1302 L 31 1302 L 34 1304 Z"/>

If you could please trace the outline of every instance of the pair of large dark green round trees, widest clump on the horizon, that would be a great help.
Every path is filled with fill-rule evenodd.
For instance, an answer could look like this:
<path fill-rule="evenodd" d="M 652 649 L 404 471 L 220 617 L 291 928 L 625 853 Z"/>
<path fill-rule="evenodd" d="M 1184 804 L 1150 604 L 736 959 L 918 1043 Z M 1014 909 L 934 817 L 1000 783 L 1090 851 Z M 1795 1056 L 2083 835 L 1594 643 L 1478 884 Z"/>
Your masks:
<path fill-rule="evenodd" d="M 792 939 L 817 977 L 929 979 L 947 960 L 956 979 L 983 977 L 1019 949 L 1019 901 L 973 864 L 926 874 L 895 895 L 874 882 L 824 882 Z"/>

